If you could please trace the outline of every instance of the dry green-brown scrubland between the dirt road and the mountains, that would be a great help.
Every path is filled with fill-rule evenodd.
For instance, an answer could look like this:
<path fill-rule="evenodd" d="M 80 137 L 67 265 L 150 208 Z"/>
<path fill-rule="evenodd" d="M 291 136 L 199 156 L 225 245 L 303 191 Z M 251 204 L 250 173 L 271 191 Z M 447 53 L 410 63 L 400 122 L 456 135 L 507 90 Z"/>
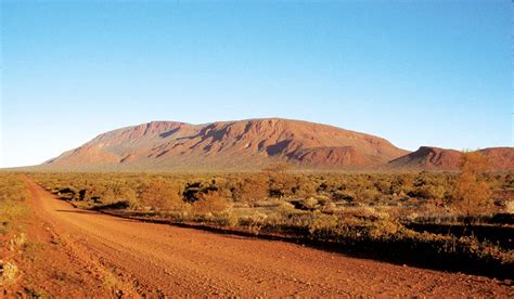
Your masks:
<path fill-rule="evenodd" d="M 514 265 L 513 172 L 29 176 L 77 207 L 121 217 L 503 278 Z"/>

